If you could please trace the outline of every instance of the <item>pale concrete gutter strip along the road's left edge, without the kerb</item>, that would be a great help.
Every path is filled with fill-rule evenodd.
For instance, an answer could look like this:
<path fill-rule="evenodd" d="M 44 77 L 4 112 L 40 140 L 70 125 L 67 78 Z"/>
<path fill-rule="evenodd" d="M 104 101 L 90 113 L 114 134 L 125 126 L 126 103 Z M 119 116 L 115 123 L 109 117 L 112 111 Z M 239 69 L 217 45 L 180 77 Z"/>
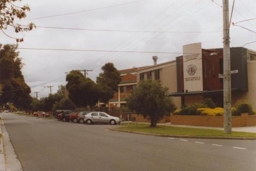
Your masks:
<path fill-rule="evenodd" d="M 20 160 L 13 148 L 11 139 L 9 137 L 9 133 L 7 132 L 3 117 L 1 114 L 1 132 L 3 138 L 3 152 L 4 152 L 4 159 L 5 159 L 5 170 L 15 170 L 15 171 L 23 171 L 22 165 Z"/>

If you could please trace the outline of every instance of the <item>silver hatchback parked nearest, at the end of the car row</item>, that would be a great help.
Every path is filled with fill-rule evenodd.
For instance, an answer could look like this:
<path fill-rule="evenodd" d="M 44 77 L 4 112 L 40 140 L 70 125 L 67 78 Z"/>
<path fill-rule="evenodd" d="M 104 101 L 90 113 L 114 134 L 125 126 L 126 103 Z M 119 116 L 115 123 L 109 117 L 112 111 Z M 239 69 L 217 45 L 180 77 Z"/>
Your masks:
<path fill-rule="evenodd" d="M 91 112 L 87 115 L 84 115 L 84 121 L 86 124 L 92 123 L 110 123 L 111 125 L 115 125 L 120 123 L 119 117 L 110 116 L 105 112 Z"/>

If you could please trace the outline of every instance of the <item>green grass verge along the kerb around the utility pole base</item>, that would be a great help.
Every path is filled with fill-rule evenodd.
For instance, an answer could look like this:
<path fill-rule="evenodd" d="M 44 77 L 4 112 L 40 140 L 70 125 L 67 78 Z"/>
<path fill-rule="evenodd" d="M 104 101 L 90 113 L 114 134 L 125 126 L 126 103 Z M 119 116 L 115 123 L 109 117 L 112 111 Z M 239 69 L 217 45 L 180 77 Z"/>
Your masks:
<path fill-rule="evenodd" d="M 232 136 L 232 137 L 256 137 L 256 133 L 249 132 L 235 132 L 232 134 L 224 134 L 222 130 L 211 130 L 211 129 L 197 129 L 190 127 L 178 127 L 178 126 L 162 126 L 149 127 L 149 124 L 137 124 L 135 127 L 134 123 L 130 123 L 129 127 L 127 123 L 122 127 L 116 127 L 115 130 L 125 130 L 134 132 L 145 132 L 155 134 L 167 134 L 167 135 L 189 135 L 189 136 Z"/>

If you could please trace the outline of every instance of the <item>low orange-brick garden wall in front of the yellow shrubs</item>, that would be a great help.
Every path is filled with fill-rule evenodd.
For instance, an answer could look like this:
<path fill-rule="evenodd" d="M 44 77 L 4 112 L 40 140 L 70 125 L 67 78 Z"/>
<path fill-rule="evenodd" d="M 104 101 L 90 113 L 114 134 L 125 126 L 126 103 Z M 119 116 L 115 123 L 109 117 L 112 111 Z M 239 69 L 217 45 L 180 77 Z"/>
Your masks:
<path fill-rule="evenodd" d="M 255 126 L 256 116 L 242 114 L 242 116 L 232 116 L 232 126 Z M 213 126 L 223 127 L 223 116 L 188 116 L 171 115 L 171 124 L 174 125 L 192 125 L 192 126 Z"/>

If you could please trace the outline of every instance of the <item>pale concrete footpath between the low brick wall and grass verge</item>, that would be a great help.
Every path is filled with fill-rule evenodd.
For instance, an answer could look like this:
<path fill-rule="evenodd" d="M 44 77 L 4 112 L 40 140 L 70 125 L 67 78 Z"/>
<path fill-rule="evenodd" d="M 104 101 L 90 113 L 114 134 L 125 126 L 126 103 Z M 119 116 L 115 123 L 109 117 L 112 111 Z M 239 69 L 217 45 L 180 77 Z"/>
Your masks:
<path fill-rule="evenodd" d="M 124 122 L 123 122 L 124 123 Z M 137 122 L 141 123 L 141 122 Z M 149 123 L 141 123 L 141 124 L 149 124 Z M 223 127 L 210 127 L 210 126 L 190 126 L 190 125 L 173 125 L 171 122 L 167 123 L 159 123 L 157 125 L 164 125 L 164 126 L 179 126 L 179 127 L 194 127 L 198 129 L 213 129 L 213 130 L 223 130 Z M 246 127 L 232 127 L 232 131 L 238 132 L 252 132 L 256 133 L 256 126 L 246 126 Z"/>

